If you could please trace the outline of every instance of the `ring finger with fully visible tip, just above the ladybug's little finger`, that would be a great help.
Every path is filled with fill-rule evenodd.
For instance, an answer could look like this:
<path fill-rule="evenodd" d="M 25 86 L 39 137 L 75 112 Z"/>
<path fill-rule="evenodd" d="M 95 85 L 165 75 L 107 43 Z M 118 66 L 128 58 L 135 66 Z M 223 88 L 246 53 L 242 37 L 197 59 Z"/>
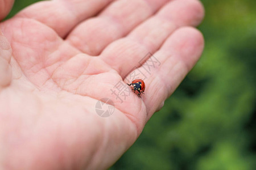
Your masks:
<path fill-rule="evenodd" d="M 175 29 L 199 24 L 203 16 L 203 6 L 199 1 L 172 1 L 129 36 L 109 45 L 100 57 L 124 78 L 147 59 L 145 54 L 158 50 Z"/>

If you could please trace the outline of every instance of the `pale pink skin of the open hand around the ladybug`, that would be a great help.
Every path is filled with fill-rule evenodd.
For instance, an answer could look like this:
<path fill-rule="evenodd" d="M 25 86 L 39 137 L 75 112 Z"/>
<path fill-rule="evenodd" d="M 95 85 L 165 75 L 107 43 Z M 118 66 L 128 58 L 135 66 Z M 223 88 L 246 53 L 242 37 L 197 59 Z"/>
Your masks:
<path fill-rule="evenodd" d="M 12 5 L 0 0 L 0 19 Z M 203 16 L 196 0 L 56 0 L 1 22 L 0 169 L 114 164 L 201 56 Z M 148 52 L 160 65 L 142 99 L 121 103 L 110 89 Z M 115 104 L 106 118 L 103 97 Z"/>

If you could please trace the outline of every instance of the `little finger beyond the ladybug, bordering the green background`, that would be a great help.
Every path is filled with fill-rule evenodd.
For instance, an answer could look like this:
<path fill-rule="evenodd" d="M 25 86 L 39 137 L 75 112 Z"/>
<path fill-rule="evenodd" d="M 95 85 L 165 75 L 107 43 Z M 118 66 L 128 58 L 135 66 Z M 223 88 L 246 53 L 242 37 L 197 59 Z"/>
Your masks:
<path fill-rule="evenodd" d="M 153 57 L 160 65 L 151 67 L 151 72 L 140 67 L 138 70 L 148 75 L 143 100 L 147 108 L 147 118 L 163 106 L 164 100 L 174 92 L 201 56 L 204 48 L 203 36 L 197 29 L 184 27 L 177 29 Z M 136 70 L 135 70 L 136 71 Z"/>

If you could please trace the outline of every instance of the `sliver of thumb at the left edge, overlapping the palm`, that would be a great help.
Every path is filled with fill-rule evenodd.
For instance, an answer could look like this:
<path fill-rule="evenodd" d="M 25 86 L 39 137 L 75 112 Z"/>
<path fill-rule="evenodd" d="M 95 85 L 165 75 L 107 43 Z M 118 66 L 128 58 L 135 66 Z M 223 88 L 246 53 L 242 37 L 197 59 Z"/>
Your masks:
<path fill-rule="evenodd" d="M 0 90 L 11 83 L 11 46 L 0 30 Z"/>

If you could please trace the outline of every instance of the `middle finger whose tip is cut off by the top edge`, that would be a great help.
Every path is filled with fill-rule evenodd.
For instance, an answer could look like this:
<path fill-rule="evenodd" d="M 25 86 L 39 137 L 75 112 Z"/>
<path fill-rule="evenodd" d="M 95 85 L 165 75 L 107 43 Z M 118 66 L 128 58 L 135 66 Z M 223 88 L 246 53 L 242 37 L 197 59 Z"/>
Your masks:
<path fill-rule="evenodd" d="M 86 20 L 76 27 L 67 41 L 82 52 L 97 56 L 106 45 L 127 35 L 167 1 L 116 1 L 97 18 Z"/>

